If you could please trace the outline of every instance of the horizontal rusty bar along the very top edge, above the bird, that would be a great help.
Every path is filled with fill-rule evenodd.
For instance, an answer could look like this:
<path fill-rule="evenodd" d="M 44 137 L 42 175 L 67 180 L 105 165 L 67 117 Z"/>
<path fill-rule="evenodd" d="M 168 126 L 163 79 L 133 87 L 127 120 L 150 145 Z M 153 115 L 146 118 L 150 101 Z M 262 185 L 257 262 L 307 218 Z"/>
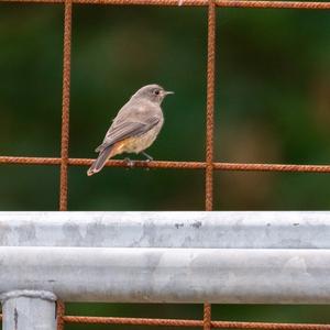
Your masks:
<path fill-rule="evenodd" d="M 38 2 L 38 3 L 64 3 L 65 0 L 0 0 L 0 2 Z M 73 0 L 80 4 L 112 4 L 112 6 L 185 6 L 205 7 L 208 0 Z M 240 1 L 216 0 L 217 7 L 228 8 L 282 8 L 282 9 L 330 9 L 330 2 L 314 1 Z"/>

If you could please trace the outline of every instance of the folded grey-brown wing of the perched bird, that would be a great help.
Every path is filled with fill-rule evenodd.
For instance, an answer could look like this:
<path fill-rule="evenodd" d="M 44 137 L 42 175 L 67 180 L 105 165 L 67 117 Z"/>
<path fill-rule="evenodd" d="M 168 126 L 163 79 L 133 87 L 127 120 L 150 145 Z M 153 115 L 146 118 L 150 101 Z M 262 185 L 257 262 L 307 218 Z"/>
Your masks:
<path fill-rule="evenodd" d="M 96 152 L 101 152 L 107 146 L 127 138 L 142 135 L 155 127 L 160 120 L 160 117 L 153 116 L 143 121 L 122 121 L 117 124 L 113 122 L 106 134 L 103 143 L 96 148 Z"/>

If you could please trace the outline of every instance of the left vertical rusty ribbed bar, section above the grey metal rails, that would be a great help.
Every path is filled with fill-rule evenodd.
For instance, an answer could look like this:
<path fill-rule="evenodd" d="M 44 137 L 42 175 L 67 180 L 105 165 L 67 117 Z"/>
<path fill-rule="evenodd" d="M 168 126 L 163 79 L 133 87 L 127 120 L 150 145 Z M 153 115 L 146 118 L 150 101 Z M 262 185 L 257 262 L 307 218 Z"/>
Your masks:
<path fill-rule="evenodd" d="M 63 95 L 62 95 L 62 140 L 61 140 L 61 182 L 59 210 L 67 210 L 67 172 L 69 143 L 69 102 L 70 102 L 70 57 L 72 57 L 72 9 L 70 0 L 64 9 L 64 50 L 63 50 Z"/>

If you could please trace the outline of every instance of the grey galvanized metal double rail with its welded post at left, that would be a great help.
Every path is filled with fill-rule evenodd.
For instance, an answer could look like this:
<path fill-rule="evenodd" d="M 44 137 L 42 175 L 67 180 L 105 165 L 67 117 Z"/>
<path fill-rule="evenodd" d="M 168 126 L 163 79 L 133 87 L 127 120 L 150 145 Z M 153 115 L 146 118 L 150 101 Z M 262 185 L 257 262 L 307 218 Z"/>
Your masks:
<path fill-rule="evenodd" d="M 3 330 L 55 329 L 56 298 L 330 304 L 330 212 L 0 212 L 0 228 Z"/>

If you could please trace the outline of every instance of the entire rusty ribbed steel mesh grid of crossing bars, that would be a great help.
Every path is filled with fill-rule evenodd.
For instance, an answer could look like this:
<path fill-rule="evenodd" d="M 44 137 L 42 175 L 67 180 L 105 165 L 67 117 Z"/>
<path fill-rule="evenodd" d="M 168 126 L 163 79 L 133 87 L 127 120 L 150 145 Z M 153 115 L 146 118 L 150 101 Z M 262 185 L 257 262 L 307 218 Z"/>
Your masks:
<path fill-rule="evenodd" d="M 330 173 L 330 165 L 295 165 L 295 164 L 248 164 L 219 163 L 213 160 L 215 135 L 215 70 L 216 70 L 216 7 L 228 8 L 278 8 L 278 9 L 330 9 L 330 2 L 311 1 L 246 1 L 246 0 L 0 0 L 0 2 L 34 2 L 64 4 L 64 51 L 63 51 L 63 103 L 62 103 L 62 141 L 61 157 L 0 156 L 1 164 L 16 165 L 53 165 L 61 168 L 59 210 L 67 210 L 68 166 L 90 166 L 94 160 L 69 158 L 69 100 L 70 100 L 70 50 L 72 50 L 72 11 L 73 3 L 113 4 L 113 6 L 185 6 L 208 7 L 208 56 L 207 56 L 207 105 L 206 105 L 206 161 L 205 162 L 172 162 L 153 161 L 135 162 L 134 167 L 202 169 L 206 175 L 205 208 L 211 211 L 213 207 L 213 172 L 294 172 L 294 173 Z M 130 167 L 125 161 L 110 160 L 110 167 Z M 127 326 L 165 326 L 165 327 L 198 327 L 204 330 L 221 329 L 264 329 L 264 330 L 330 330 L 330 324 L 311 323 L 273 323 L 273 322 L 235 322 L 212 321 L 210 304 L 204 305 L 202 320 L 183 319 L 150 319 L 118 317 L 65 316 L 65 305 L 56 305 L 57 330 L 64 330 L 65 323 L 98 323 Z M 0 321 L 2 315 L 0 314 Z"/>

